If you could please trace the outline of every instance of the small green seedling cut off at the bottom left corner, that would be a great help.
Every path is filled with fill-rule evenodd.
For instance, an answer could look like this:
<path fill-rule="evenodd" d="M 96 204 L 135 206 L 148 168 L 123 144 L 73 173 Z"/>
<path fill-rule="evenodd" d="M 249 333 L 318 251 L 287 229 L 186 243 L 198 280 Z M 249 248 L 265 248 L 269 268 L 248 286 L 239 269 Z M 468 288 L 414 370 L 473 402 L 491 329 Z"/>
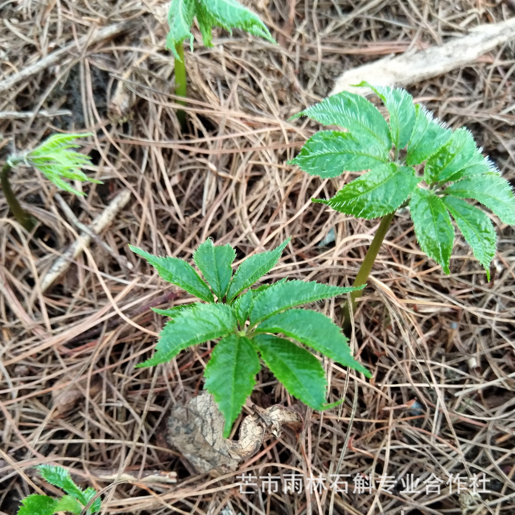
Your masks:
<path fill-rule="evenodd" d="M 96 491 L 88 487 L 81 490 L 70 477 L 70 473 L 63 467 L 53 465 L 40 465 L 36 467 L 43 479 L 66 492 L 60 499 L 48 495 L 34 493 L 22 499 L 22 507 L 18 515 L 54 515 L 58 511 L 68 511 L 75 515 L 91 515 L 100 511 L 100 497 Z M 84 510 L 84 508 L 88 507 Z"/>

